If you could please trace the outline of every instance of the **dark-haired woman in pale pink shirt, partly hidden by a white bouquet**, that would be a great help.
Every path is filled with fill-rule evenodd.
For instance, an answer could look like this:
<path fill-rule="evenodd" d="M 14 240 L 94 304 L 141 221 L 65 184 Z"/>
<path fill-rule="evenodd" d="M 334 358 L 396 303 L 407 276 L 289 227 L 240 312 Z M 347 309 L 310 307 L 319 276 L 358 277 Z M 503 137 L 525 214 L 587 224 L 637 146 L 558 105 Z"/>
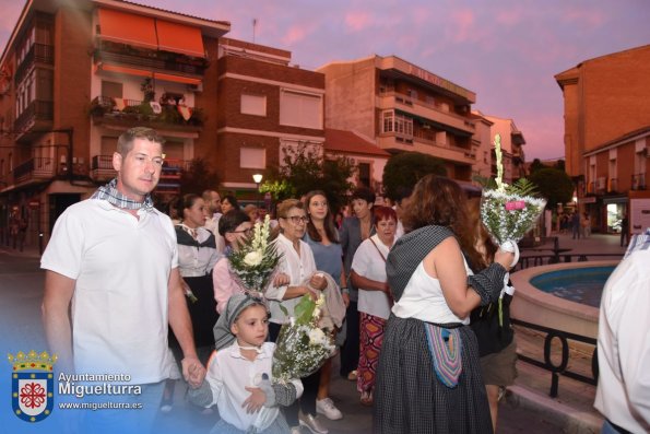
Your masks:
<path fill-rule="evenodd" d="M 241 286 L 231 275 L 227 255 L 232 250 L 239 250 L 239 243 L 248 237 L 251 231 L 252 222 L 248 214 L 241 210 L 231 210 L 218 220 L 218 234 L 223 236 L 226 242 L 226 256 L 216 262 L 214 271 L 212 272 L 214 300 L 216 300 L 216 310 L 220 315 L 226 308 L 228 300 L 234 294 L 244 292 Z"/>

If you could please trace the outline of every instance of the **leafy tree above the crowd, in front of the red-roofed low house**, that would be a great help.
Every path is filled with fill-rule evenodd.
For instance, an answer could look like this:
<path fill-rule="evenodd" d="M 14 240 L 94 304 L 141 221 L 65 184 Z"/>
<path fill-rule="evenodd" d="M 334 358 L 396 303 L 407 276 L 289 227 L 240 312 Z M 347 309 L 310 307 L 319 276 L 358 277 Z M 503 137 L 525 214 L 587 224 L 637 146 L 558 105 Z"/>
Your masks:
<path fill-rule="evenodd" d="M 322 190 L 332 212 L 345 203 L 347 192 L 354 188 L 348 180 L 356 172 L 353 160 L 345 156 L 326 159 L 321 149 L 304 143 L 283 146 L 282 151 L 283 164 L 267 169 L 267 181 L 260 186 L 260 191 L 270 192 L 275 200 L 284 200 Z"/>

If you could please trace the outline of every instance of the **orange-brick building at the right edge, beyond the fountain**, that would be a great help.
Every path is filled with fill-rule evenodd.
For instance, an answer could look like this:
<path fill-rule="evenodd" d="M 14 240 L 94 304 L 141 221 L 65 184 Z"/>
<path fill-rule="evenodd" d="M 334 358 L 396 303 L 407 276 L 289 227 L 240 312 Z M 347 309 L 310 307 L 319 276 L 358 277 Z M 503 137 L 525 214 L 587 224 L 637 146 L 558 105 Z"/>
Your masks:
<path fill-rule="evenodd" d="M 650 45 L 584 60 L 555 80 L 580 209 L 601 231 L 618 232 L 630 200 L 650 199 Z"/>

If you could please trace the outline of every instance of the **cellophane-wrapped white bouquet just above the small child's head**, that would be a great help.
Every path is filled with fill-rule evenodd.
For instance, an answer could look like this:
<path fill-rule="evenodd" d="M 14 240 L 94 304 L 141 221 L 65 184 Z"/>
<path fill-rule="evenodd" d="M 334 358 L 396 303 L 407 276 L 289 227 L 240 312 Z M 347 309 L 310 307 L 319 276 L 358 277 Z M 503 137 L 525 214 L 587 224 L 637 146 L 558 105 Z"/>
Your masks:
<path fill-rule="evenodd" d="M 262 298 L 263 291 L 272 280 L 282 254 L 270 239 L 270 218 L 257 222 L 252 233 L 243 241 L 237 250 L 228 254 L 231 274 L 244 292 Z"/>

